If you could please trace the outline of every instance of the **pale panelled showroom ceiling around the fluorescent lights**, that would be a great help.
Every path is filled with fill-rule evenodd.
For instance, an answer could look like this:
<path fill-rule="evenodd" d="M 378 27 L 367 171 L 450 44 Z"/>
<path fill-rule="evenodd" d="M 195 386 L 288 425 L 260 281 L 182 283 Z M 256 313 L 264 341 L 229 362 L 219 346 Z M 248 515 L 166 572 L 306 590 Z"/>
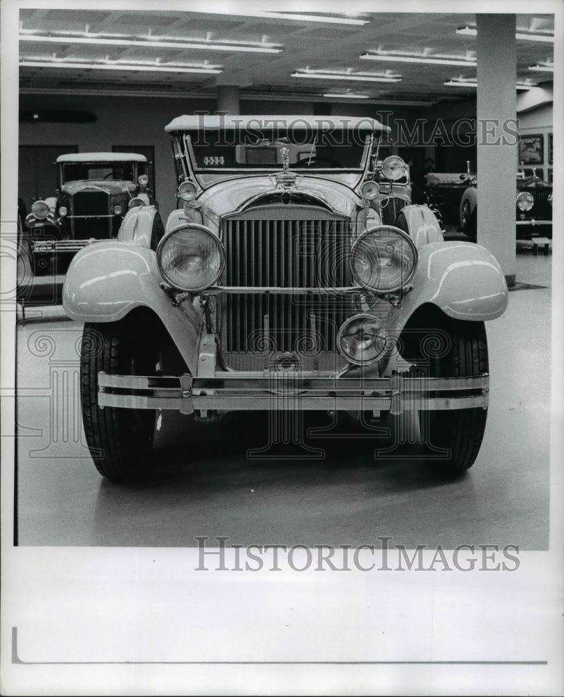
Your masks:
<path fill-rule="evenodd" d="M 453 77 L 475 77 L 475 68 L 438 66 L 392 61 L 367 61 L 360 59 L 365 52 L 396 52 L 419 56 L 442 54 L 472 58 L 476 41 L 471 36 L 456 33 L 460 26 L 475 24 L 474 15 L 446 13 L 367 13 L 369 22 L 362 26 L 348 24 L 323 24 L 321 22 L 265 19 L 195 12 L 137 12 L 116 10 L 33 10 L 20 12 L 22 31 L 61 36 L 62 31 L 75 36 L 107 40 L 109 35 L 139 40 L 152 36 L 166 40 L 215 42 L 224 44 L 221 50 L 188 47 L 116 46 L 42 41 L 21 41 L 20 53 L 27 60 L 45 60 L 53 55 L 59 61 L 96 63 L 109 59 L 123 63 L 181 63 L 190 66 L 219 66 L 222 74 L 199 75 L 178 72 L 146 72 L 89 69 L 22 67 L 21 85 L 25 91 L 40 91 L 47 85 L 77 84 L 77 89 L 89 86 L 89 91 L 111 89 L 120 84 L 121 93 L 127 93 L 124 84 L 160 85 L 178 89 L 185 94 L 186 85 L 192 93 L 214 95 L 218 84 L 241 86 L 241 97 L 265 93 L 272 97 L 323 100 L 323 93 L 342 92 L 348 88 L 362 92 L 369 98 L 384 94 L 398 98 L 421 100 L 450 100 L 472 95 L 471 91 L 445 86 Z M 517 26 L 531 31 L 554 30 L 552 15 L 517 15 Z M 237 52 L 229 44 L 280 45 L 282 52 L 259 54 Z M 550 73 L 533 73 L 528 66 L 551 61 L 552 45 L 517 41 L 517 77 L 546 82 Z M 317 80 L 291 77 L 296 70 L 324 70 L 346 74 L 370 72 L 386 74 L 386 71 L 402 75 L 402 82 L 356 82 L 344 80 Z M 150 90 L 149 90 L 150 92 Z"/>

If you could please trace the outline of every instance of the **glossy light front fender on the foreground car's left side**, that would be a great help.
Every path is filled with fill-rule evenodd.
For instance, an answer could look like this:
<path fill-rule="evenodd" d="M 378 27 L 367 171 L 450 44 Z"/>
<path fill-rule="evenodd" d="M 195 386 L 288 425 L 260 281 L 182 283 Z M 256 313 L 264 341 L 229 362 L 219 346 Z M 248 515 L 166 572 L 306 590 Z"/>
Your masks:
<path fill-rule="evenodd" d="M 172 305 L 160 287 L 155 252 L 111 240 L 84 247 L 70 263 L 63 285 L 63 308 L 80 322 L 115 322 L 135 307 L 160 318 L 190 371 L 195 370 L 201 315 L 190 300 Z"/>

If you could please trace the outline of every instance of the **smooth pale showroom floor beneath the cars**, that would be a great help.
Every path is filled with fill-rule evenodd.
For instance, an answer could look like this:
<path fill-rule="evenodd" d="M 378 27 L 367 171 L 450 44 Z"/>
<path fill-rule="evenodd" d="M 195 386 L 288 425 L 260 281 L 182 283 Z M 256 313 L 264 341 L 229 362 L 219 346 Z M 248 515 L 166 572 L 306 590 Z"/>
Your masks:
<path fill-rule="evenodd" d="M 389 536 L 408 549 L 547 549 L 551 261 L 517 254 L 518 281 L 544 287 L 510 293 L 505 315 L 487 323 L 487 430 L 475 465 L 455 481 L 423 466 L 416 446 L 375 460 L 374 441 L 324 438 L 312 443 L 323 459 L 294 459 L 284 448 L 254 459 L 247 448 L 264 444 L 264 418 L 234 415 L 190 441 L 181 418 L 165 413 L 155 476 L 112 484 L 84 446 L 81 325 L 20 323 L 17 544 L 194 546 L 196 536 L 225 536 L 245 545 L 377 546 Z"/>

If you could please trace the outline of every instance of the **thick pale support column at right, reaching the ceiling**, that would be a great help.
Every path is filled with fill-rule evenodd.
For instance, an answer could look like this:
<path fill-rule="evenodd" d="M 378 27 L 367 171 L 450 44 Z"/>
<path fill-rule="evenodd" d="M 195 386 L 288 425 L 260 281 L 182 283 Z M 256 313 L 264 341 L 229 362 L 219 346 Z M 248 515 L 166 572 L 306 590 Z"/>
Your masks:
<path fill-rule="evenodd" d="M 478 31 L 478 244 L 515 285 L 515 15 L 476 14 Z M 509 131 L 504 124 L 509 124 Z M 512 131 L 512 132 L 511 132 Z"/>

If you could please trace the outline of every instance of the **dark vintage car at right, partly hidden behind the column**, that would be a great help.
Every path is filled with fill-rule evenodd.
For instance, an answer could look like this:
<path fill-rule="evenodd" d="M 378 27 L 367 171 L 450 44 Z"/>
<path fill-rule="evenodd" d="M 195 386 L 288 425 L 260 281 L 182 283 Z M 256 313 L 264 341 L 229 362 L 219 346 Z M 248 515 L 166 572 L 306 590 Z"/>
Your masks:
<path fill-rule="evenodd" d="M 456 225 L 472 240 L 478 223 L 478 188 L 474 174 L 428 174 L 426 199 L 444 226 Z M 535 175 L 517 173 L 517 240 L 552 237 L 552 185 Z"/>

